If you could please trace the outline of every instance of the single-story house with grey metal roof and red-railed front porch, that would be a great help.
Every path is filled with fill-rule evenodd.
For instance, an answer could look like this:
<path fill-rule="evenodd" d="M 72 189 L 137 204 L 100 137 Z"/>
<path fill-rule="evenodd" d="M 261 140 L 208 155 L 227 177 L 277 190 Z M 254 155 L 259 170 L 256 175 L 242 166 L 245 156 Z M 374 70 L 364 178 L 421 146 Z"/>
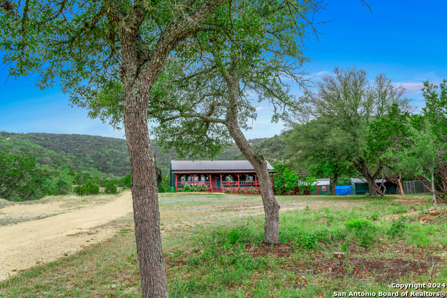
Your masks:
<path fill-rule="evenodd" d="M 268 162 L 267 168 L 270 177 L 277 172 Z M 235 192 L 241 188 L 246 193 L 250 188 L 260 191 L 258 177 L 249 161 L 171 161 L 171 192 L 177 192 L 185 184 L 207 186 L 212 193 L 222 193 L 226 189 Z"/>

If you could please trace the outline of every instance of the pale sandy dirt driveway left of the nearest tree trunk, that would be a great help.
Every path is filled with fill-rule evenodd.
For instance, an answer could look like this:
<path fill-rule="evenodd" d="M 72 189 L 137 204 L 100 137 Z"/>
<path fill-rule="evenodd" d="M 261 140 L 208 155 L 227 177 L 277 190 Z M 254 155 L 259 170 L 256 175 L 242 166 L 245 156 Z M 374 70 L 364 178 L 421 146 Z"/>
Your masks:
<path fill-rule="evenodd" d="M 0 281 L 22 269 L 70 255 L 111 237 L 118 227 L 106 223 L 133 211 L 130 191 L 116 197 L 98 196 L 97 204 L 91 201 L 82 204 L 80 200 L 53 200 L 0 209 L 3 217 L 22 221 L 0 227 Z M 41 217 L 46 218 L 33 220 Z"/>

